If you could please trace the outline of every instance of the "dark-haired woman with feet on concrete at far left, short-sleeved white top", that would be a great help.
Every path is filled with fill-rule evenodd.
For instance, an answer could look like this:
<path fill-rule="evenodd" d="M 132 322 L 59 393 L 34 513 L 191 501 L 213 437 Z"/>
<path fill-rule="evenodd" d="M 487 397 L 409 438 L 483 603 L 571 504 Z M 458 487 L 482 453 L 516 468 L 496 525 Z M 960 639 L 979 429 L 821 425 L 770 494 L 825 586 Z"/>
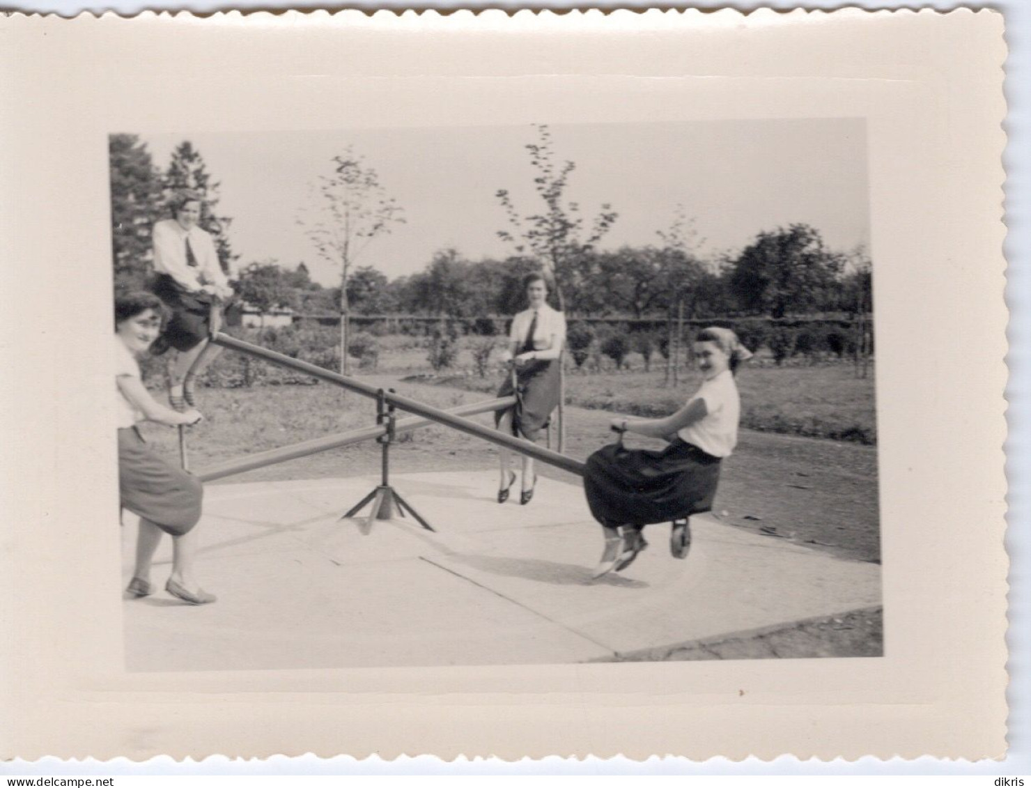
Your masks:
<path fill-rule="evenodd" d="M 179 413 L 158 403 L 140 379 L 136 359 L 158 337 L 165 315 L 161 300 L 151 293 L 129 293 L 114 302 L 119 493 L 122 507 L 139 516 L 136 563 L 126 590 L 132 596 L 155 592 L 151 564 L 162 534 L 167 533 L 172 537 L 173 558 L 165 590 L 191 604 L 205 604 L 215 597 L 202 590 L 194 577 L 196 525 L 204 492 L 200 480 L 160 457 L 136 426 L 152 421 L 175 427 L 202 419 L 196 411 Z"/>

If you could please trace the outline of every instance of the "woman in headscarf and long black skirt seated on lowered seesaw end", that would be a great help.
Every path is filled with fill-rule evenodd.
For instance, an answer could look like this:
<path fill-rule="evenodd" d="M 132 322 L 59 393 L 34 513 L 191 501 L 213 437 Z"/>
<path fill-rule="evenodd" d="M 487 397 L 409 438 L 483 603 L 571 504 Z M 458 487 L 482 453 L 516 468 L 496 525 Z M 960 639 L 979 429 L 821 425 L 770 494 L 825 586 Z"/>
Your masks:
<path fill-rule="evenodd" d="M 630 450 L 621 439 L 588 458 L 584 490 L 605 537 L 595 579 L 629 566 L 647 547 L 643 527 L 654 523 L 672 522 L 670 552 L 686 558 L 691 545 L 688 518 L 712 508 L 720 463 L 737 445 L 741 402 L 734 373 L 752 354 L 729 328 L 699 332 L 694 354 L 703 380 L 684 407 L 665 419 L 611 423 L 621 435 L 665 438 L 665 449 Z"/>

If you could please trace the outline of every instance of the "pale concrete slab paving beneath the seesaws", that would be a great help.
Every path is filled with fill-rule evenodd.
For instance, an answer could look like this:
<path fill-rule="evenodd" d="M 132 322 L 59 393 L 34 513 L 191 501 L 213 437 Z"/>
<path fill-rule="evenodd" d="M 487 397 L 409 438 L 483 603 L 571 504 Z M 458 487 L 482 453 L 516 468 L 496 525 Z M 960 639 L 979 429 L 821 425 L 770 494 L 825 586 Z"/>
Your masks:
<path fill-rule="evenodd" d="M 338 518 L 377 481 L 209 485 L 198 572 L 219 601 L 127 599 L 128 669 L 580 662 L 880 602 L 878 566 L 710 516 L 687 560 L 651 526 L 632 566 L 593 582 L 602 541 L 579 486 L 541 479 L 529 505 L 499 505 L 494 470 L 396 477 L 437 533 L 398 518 L 362 534 Z M 128 582 L 131 518 L 123 530 Z M 161 586 L 170 555 L 166 539 Z"/>

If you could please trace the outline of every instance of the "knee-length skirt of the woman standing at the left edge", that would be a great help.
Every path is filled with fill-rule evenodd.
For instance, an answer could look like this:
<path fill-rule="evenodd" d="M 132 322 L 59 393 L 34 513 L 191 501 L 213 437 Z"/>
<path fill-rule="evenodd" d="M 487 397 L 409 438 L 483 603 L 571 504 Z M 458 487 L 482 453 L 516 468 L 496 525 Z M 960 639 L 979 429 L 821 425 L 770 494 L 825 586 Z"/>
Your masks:
<path fill-rule="evenodd" d="M 166 462 L 139 430 L 119 430 L 119 494 L 124 508 L 181 536 L 200 520 L 204 487 L 192 473 Z"/>

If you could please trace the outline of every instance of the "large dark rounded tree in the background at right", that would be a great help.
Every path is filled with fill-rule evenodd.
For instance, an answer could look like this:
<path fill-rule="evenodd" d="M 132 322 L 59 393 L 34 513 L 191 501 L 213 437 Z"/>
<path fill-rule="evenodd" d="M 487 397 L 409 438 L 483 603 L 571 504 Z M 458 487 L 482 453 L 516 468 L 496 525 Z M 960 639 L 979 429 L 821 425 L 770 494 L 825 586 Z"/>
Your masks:
<path fill-rule="evenodd" d="M 842 262 L 817 230 L 795 224 L 759 233 L 734 262 L 730 286 L 745 310 L 783 318 L 821 307 Z"/>

